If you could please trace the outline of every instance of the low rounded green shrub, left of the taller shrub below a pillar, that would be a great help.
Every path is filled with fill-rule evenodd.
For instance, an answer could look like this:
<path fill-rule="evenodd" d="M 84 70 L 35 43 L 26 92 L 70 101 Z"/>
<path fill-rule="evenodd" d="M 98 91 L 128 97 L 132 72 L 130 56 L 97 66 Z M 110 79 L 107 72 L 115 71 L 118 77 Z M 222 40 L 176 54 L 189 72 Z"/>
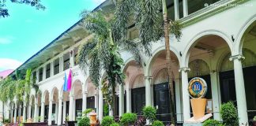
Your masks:
<path fill-rule="evenodd" d="M 127 126 L 127 125 L 134 124 L 136 120 L 137 120 L 136 113 L 124 113 L 122 115 L 120 123 L 121 123 L 121 125 Z"/>

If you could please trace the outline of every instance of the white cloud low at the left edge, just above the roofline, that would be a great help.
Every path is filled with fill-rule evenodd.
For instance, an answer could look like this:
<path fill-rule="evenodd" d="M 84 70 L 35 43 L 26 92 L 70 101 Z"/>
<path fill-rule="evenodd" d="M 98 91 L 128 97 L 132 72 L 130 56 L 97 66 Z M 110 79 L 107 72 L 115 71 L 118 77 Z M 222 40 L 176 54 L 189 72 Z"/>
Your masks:
<path fill-rule="evenodd" d="M 10 58 L 0 58 L 0 69 L 17 69 L 21 65 L 21 61 Z"/>

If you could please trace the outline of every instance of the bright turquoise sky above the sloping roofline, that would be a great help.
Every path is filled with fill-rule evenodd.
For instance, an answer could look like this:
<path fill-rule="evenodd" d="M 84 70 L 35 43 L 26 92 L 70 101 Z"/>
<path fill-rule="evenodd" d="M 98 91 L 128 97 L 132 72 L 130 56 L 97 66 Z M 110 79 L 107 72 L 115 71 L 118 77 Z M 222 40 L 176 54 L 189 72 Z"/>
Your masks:
<path fill-rule="evenodd" d="M 17 69 L 105 0 L 41 0 L 45 10 L 7 0 L 9 17 L 0 17 L 0 72 Z"/>

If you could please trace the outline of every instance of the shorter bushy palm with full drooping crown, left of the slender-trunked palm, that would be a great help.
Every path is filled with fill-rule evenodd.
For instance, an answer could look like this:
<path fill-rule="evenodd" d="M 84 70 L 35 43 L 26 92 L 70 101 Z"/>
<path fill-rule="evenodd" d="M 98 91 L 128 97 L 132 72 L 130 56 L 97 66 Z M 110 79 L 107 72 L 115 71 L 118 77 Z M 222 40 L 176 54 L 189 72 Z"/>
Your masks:
<path fill-rule="evenodd" d="M 107 17 L 107 13 L 85 10 L 81 13 L 81 17 L 83 17 L 81 26 L 93 36 L 79 47 L 77 62 L 85 72 L 88 68 L 89 77 L 96 87 L 99 87 L 101 83 L 100 88 L 115 115 L 116 83 L 123 83 L 125 77 L 121 71 L 123 61 L 118 50 L 124 48 L 130 51 L 138 64 L 141 63 L 140 50 L 137 43 L 132 41 L 126 40 L 122 43 L 116 41 L 119 39 L 119 34 L 115 33 L 119 31 L 115 26 L 115 20 Z M 102 79 L 102 82 L 100 82 L 101 70 L 106 72 L 106 77 Z"/>

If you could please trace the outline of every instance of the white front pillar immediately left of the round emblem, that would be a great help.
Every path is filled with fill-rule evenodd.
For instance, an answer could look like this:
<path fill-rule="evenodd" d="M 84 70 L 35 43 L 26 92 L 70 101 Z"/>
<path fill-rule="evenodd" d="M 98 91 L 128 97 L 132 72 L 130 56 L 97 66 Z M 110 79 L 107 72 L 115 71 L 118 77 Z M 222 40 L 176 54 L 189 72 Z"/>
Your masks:
<path fill-rule="evenodd" d="M 190 119 L 190 95 L 188 93 L 188 78 L 187 72 L 189 68 L 181 68 L 179 72 L 182 72 L 182 86 L 183 86 L 183 120 Z"/>

